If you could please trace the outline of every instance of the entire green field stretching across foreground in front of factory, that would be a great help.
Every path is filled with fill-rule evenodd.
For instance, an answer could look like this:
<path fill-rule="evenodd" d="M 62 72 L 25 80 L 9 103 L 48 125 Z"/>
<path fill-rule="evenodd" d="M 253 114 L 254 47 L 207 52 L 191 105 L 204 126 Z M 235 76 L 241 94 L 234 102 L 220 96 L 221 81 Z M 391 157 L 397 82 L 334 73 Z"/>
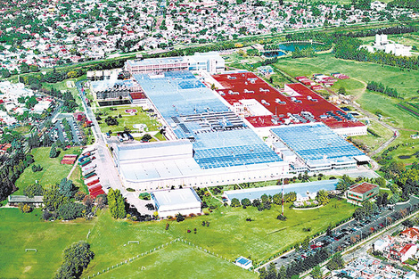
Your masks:
<path fill-rule="evenodd" d="M 70 222 L 45 222 L 39 219 L 39 209 L 29 214 L 23 214 L 18 209 L 0 209 L 0 231 L 4 235 L 0 240 L 0 274 L 6 278 L 50 278 L 60 266 L 62 250 L 71 242 L 86 240 L 89 231 L 87 242 L 91 244 L 95 257 L 83 277 L 96 274 L 179 237 L 230 260 L 244 256 L 259 262 L 296 242 L 301 242 L 307 235 L 324 231 L 329 224 L 349 217 L 354 209 L 354 206 L 345 201 L 335 200 L 321 209 L 300 211 L 286 207 L 285 216 L 288 220 L 282 222 L 276 219 L 280 213 L 279 206 L 262 212 L 255 208 L 222 207 L 208 216 L 189 217 L 181 223 L 176 220 L 145 223 L 114 220 L 108 210 L 98 211 L 98 217 L 90 221 L 79 219 Z M 251 222 L 246 221 L 249 217 Z M 209 221 L 209 226 L 201 226 L 202 221 Z M 168 231 L 165 230 L 166 223 L 169 224 Z M 308 227 L 311 231 L 304 232 L 303 228 Z M 193 234 L 194 228 L 197 229 L 197 234 Z M 187 233 L 188 229 L 192 233 Z M 128 244 L 128 241 L 139 241 L 139 244 Z M 38 252 L 25 252 L 25 248 L 35 248 Z M 185 264 L 180 263 L 180 255 L 183 259 L 194 258 L 195 261 L 184 259 Z M 159 266 L 162 260 L 165 267 Z M 193 265 L 190 265 L 191 262 Z M 187 264 L 189 268 L 186 268 Z M 138 267 L 143 266 L 146 270 L 141 271 L 141 275 L 146 278 L 159 278 L 160 275 L 166 275 L 168 270 L 182 270 L 179 271 L 178 278 L 194 275 L 199 278 L 203 275 L 209 278 L 218 277 L 218 272 L 225 268 L 232 274 L 241 272 L 241 269 L 221 258 L 209 256 L 201 250 L 182 244 L 136 259 L 127 267 L 117 268 L 103 276 L 136 277 L 140 275 L 137 273 Z M 216 269 L 220 271 L 216 272 Z M 247 272 L 242 276 L 255 278 Z"/>

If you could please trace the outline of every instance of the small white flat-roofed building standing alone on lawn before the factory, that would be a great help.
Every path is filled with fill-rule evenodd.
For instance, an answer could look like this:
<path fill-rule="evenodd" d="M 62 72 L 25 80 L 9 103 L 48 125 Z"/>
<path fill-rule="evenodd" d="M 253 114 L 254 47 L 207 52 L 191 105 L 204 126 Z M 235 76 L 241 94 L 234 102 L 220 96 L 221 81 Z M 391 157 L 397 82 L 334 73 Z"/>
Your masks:
<path fill-rule="evenodd" d="M 160 217 L 201 213 L 201 199 L 193 188 L 155 191 L 151 196 Z"/>

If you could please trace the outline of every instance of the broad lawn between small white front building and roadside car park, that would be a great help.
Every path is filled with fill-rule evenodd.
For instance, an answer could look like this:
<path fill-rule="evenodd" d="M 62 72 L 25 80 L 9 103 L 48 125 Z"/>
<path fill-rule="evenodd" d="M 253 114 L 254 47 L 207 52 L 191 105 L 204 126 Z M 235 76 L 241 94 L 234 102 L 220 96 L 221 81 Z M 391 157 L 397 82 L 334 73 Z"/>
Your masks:
<path fill-rule="evenodd" d="M 333 207 L 335 204 L 337 209 Z M 265 211 L 258 211 L 253 207 L 220 207 L 208 216 L 187 218 L 181 223 L 169 221 L 169 231 L 231 260 L 244 256 L 259 262 L 301 242 L 308 235 L 324 231 L 330 224 L 334 225 L 350 217 L 355 210 L 346 201 L 336 200 L 323 208 L 313 210 L 293 210 L 288 206 L 285 207 L 284 214 L 288 217 L 285 222 L 276 219 L 281 212 L 281 206 L 274 205 L 272 209 Z M 248 222 L 246 218 L 251 218 L 252 221 Z M 209 221 L 209 226 L 201 226 L 202 221 Z M 288 229 L 268 234 L 283 227 Z M 304 232 L 303 228 L 308 227 L 311 231 Z M 193 234 L 195 228 L 197 234 Z M 192 233 L 187 233 L 187 230 Z"/>

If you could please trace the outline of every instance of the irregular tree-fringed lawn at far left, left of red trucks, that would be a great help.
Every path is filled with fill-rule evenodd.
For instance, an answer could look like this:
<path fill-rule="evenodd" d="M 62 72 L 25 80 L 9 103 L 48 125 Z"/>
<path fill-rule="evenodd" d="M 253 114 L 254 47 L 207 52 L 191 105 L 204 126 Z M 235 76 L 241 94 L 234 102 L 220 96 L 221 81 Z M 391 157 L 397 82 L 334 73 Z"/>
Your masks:
<path fill-rule="evenodd" d="M 19 190 L 14 194 L 22 194 L 23 189 L 35 184 L 35 180 L 43 186 L 50 186 L 59 183 L 62 178 L 67 177 L 70 173 L 72 165 L 62 165 L 61 160 L 65 154 L 79 154 L 79 147 L 71 147 L 66 151 L 59 149 L 60 155 L 57 158 L 49 158 L 50 147 L 38 147 L 32 150 L 31 154 L 34 155 L 36 165 L 41 165 L 42 171 L 33 172 L 32 165 L 23 171 L 19 179 L 16 181 L 16 186 Z"/>

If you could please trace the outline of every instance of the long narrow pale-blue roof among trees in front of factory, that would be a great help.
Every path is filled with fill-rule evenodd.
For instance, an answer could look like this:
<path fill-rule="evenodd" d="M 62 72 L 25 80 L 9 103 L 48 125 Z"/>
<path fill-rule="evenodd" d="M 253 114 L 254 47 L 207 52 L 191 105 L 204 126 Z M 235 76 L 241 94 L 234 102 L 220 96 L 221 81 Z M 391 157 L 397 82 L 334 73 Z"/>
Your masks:
<path fill-rule="evenodd" d="M 239 201 L 242 201 L 242 199 L 244 198 L 248 198 L 249 200 L 255 200 L 259 199 L 263 194 L 273 196 L 275 193 L 282 193 L 282 191 L 283 193 L 295 192 L 297 194 L 300 194 L 301 196 L 305 196 L 307 192 L 316 193 L 319 190 L 335 190 L 338 182 L 339 179 L 320 180 L 306 183 L 295 183 L 291 185 L 274 185 L 261 188 L 232 190 L 226 191 L 224 194 L 230 201 L 234 198 L 238 199 Z"/>

